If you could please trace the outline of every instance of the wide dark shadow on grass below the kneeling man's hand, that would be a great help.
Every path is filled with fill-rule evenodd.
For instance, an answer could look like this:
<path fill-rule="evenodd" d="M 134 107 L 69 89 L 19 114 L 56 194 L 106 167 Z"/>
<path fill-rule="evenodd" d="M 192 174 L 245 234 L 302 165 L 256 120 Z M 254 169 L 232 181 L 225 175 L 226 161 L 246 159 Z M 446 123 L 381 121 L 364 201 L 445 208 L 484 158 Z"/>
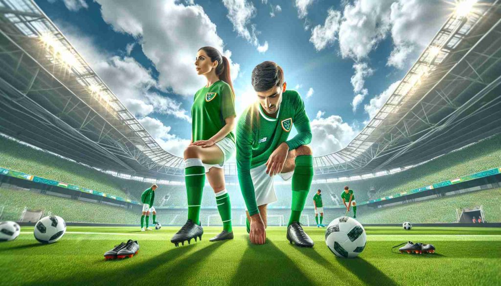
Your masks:
<path fill-rule="evenodd" d="M 306 277 L 296 262 L 287 257 L 271 239 L 267 238 L 264 245 L 255 245 L 247 241 L 247 248 L 228 285 L 285 283 L 310 285 L 313 281 Z"/>

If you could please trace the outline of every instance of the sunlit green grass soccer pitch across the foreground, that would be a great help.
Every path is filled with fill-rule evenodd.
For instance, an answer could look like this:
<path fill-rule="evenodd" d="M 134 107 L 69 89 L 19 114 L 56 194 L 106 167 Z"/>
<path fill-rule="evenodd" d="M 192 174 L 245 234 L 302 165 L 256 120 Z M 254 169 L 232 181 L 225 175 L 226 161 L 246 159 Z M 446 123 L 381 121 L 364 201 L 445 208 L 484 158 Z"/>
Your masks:
<path fill-rule="evenodd" d="M 285 227 L 269 227 L 267 243 L 252 245 L 243 227 L 235 238 L 209 242 L 221 227 L 204 227 L 202 240 L 174 247 L 178 227 L 140 232 L 139 227 L 69 226 L 44 245 L 33 227 L 0 243 L 0 284 L 169 285 L 493 285 L 501 281 L 501 228 L 366 227 L 367 245 L 354 259 L 337 258 L 325 228 L 305 227 L 313 248 L 289 244 Z M 104 260 L 115 244 L 137 239 L 132 258 Z M 432 243 L 435 254 L 395 254 L 404 241 Z M 496 282 L 497 281 L 497 282 Z"/>

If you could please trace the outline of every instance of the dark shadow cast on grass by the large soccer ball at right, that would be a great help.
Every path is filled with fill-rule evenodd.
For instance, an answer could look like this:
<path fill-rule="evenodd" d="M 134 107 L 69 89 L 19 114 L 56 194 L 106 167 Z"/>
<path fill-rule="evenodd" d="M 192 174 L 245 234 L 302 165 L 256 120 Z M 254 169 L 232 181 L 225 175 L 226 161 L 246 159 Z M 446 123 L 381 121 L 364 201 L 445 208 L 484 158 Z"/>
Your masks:
<path fill-rule="evenodd" d="M 336 257 L 339 264 L 346 268 L 346 270 L 355 274 L 360 280 L 364 281 L 367 285 L 381 286 L 381 285 L 397 285 L 390 277 L 386 276 L 378 268 L 374 267 L 371 263 L 364 258 L 340 258 Z"/>

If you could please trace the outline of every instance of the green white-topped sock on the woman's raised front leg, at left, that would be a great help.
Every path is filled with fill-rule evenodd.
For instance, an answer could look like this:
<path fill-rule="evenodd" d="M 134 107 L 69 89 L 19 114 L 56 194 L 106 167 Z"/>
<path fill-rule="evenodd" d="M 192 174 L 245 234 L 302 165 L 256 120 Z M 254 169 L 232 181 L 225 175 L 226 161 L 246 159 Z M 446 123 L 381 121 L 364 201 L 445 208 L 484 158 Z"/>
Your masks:
<path fill-rule="evenodd" d="M 188 162 L 192 164 L 189 165 Z M 203 185 L 205 185 L 205 168 L 200 159 L 187 159 L 188 166 L 184 169 L 186 182 L 186 194 L 188 197 L 188 219 L 194 223 L 200 223 L 200 205 L 202 204 Z"/>

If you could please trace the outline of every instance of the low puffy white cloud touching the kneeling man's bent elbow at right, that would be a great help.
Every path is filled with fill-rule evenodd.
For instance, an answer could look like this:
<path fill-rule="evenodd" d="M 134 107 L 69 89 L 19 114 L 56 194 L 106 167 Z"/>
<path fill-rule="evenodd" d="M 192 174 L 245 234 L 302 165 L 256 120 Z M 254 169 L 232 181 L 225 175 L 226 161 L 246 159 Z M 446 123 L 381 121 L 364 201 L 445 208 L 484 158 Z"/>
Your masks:
<path fill-rule="evenodd" d="M 341 116 L 331 115 L 324 118 L 324 114 L 322 111 L 317 112 L 317 117 L 310 123 L 314 156 L 327 155 L 342 149 L 359 132 L 343 122 Z"/>

